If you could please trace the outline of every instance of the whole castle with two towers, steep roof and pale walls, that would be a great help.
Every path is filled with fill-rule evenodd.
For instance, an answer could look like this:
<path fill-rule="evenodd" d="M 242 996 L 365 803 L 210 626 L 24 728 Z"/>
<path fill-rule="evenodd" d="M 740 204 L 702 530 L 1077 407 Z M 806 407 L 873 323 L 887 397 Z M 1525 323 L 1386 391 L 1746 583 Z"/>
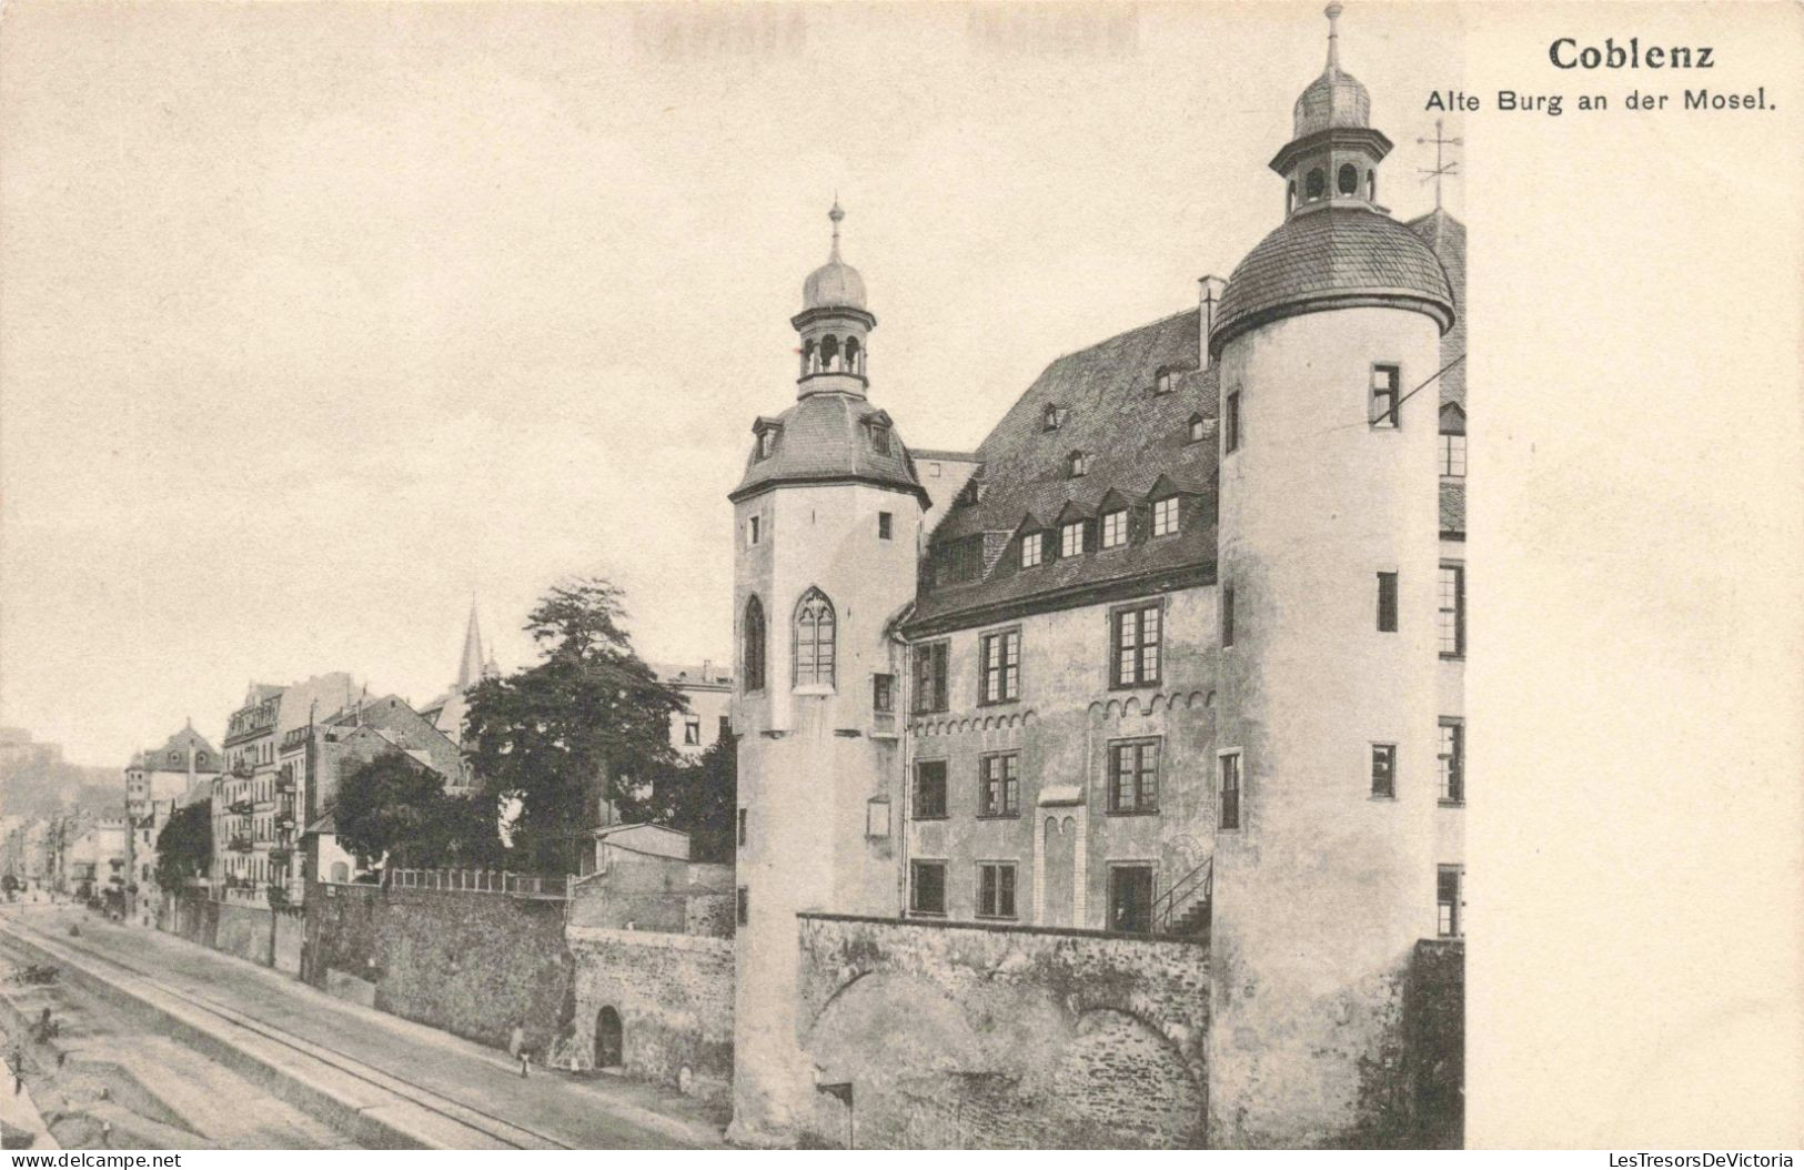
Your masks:
<path fill-rule="evenodd" d="M 1411 955 L 1463 934 L 1465 229 L 1380 202 L 1339 11 L 1277 227 L 972 454 L 871 400 L 835 204 L 731 494 L 736 1138 L 814 1111 L 814 912 L 1207 939 L 1207 1143 L 1369 1125 Z"/>

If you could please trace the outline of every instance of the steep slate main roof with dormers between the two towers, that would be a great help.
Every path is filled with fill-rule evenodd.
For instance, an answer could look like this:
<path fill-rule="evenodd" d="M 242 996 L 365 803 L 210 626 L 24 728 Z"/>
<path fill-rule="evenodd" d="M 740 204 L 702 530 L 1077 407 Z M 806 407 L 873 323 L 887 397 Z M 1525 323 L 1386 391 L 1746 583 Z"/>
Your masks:
<path fill-rule="evenodd" d="M 1144 577 L 1212 579 L 1218 382 L 1214 368 L 1196 370 L 1200 328 L 1200 314 L 1187 310 L 1046 366 L 978 447 L 978 501 L 954 505 L 929 546 L 931 566 L 953 541 L 985 537 L 983 573 L 976 580 L 940 582 L 929 571 L 909 627 Z M 1162 368 L 1173 373 L 1171 393 L 1155 395 Z M 1055 431 L 1045 427 L 1048 406 L 1066 409 Z M 1189 442 L 1192 416 L 1207 420 L 1203 442 Z M 1073 451 L 1090 456 L 1088 474 L 1075 480 L 1066 462 Z M 1095 517 L 1106 496 L 1144 505 L 1160 480 L 1165 480 L 1162 494 L 1167 487 L 1185 494 L 1178 535 L 1137 534 L 1140 539 L 1126 548 L 1070 559 L 1048 555 L 1046 564 L 1019 568 L 1023 523 L 1046 530 L 1068 508 Z"/>

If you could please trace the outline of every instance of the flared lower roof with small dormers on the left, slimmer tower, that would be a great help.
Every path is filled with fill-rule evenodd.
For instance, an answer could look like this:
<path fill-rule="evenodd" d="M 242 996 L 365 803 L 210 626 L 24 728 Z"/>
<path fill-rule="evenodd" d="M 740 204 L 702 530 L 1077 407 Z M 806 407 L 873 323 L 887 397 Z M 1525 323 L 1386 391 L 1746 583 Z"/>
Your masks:
<path fill-rule="evenodd" d="M 882 415 L 866 398 L 844 393 L 805 395 L 776 418 L 759 418 L 759 427 L 778 425 L 776 451 L 758 458 L 754 442 L 745 462 L 745 476 L 732 499 L 774 483 L 819 483 L 862 480 L 907 489 L 925 496 L 915 478 L 902 436 L 889 427 L 889 449 L 877 451 L 866 420 Z M 888 422 L 888 415 L 884 415 Z"/>

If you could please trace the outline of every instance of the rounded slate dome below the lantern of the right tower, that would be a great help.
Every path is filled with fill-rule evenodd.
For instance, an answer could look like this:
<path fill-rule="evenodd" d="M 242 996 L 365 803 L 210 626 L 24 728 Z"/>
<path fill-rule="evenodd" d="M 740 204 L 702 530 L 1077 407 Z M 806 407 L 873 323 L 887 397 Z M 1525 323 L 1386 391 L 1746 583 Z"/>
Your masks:
<path fill-rule="evenodd" d="M 1355 206 L 1299 211 L 1234 269 L 1210 352 L 1266 321 L 1369 299 L 1402 301 L 1454 323 L 1454 294 L 1431 247 L 1391 216 Z"/>

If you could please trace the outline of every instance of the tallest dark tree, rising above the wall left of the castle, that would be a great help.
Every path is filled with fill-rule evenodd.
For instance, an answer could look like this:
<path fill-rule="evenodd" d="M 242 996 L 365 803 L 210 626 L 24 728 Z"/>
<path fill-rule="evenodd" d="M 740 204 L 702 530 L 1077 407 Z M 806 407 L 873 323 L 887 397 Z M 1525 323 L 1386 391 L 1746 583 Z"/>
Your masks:
<path fill-rule="evenodd" d="M 556 586 L 525 626 L 543 662 L 469 696 L 469 764 L 491 800 L 518 799 L 509 835 L 521 867 L 572 871 L 601 804 L 642 818 L 651 781 L 676 763 L 671 718 L 689 703 L 639 660 L 624 618 L 606 580 Z"/>

